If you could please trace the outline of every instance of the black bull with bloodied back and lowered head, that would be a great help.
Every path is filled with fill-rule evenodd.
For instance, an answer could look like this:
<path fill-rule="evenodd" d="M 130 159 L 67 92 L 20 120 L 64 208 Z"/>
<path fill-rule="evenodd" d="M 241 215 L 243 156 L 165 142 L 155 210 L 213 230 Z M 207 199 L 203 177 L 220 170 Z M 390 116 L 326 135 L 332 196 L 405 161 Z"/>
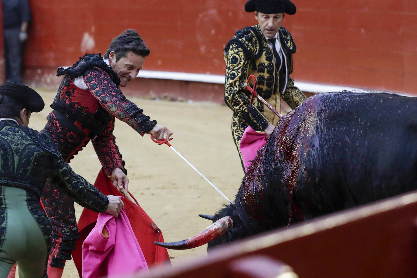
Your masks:
<path fill-rule="evenodd" d="M 415 190 L 416 142 L 417 98 L 314 95 L 281 118 L 235 205 L 212 218 L 221 220 L 193 238 L 162 245 L 186 249 L 211 240 L 211 247 Z"/>

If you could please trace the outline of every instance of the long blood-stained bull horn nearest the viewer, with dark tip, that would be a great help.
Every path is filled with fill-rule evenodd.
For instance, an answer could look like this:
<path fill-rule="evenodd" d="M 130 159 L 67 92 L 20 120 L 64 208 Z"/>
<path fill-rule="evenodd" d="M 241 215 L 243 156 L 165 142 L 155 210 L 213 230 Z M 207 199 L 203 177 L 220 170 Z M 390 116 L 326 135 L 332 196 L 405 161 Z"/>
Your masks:
<path fill-rule="evenodd" d="M 210 226 L 208 226 L 202 232 L 194 235 L 191 238 L 176 241 L 176 242 L 158 242 L 155 241 L 154 243 L 158 246 L 162 246 L 168 249 L 175 249 L 175 250 L 184 250 L 184 249 L 191 249 L 201 245 L 208 243 L 215 238 L 223 235 L 227 229 L 233 227 L 233 220 L 230 216 L 225 216 L 220 218 Z"/>

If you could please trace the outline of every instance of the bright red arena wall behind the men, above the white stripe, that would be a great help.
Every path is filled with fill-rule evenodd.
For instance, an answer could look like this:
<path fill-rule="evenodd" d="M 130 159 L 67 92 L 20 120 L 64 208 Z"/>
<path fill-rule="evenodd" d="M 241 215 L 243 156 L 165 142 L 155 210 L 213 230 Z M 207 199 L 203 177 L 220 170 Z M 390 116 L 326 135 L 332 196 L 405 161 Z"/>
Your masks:
<path fill-rule="evenodd" d="M 25 78 L 55 86 L 58 66 L 72 65 L 85 52 L 104 53 L 128 28 L 151 49 L 146 70 L 223 75 L 224 45 L 235 30 L 256 24 L 245 2 L 30 0 Z M 294 3 L 297 13 L 286 15 L 283 25 L 297 45 L 296 81 L 417 94 L 416 1 Z"/>

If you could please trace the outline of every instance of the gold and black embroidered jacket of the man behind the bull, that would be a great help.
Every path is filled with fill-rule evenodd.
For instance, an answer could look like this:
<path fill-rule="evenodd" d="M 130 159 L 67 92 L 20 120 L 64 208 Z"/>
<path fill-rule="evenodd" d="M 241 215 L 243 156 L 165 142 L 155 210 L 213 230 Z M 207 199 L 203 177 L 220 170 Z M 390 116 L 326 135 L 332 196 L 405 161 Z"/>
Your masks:
<path fill-rule="evenodd" d="M 249 75 L 253 74 L 258 79 L 256 92 L 262 98 L 269 103 L 269 99 L 274 98 L 274 103 L 270 104 L 278 112 L 281 110 L 280 97 L 292 109 L 306 99 L 289 76 L 292 73 L 292 54 L 295 53 L 296 45 L 291 34 L 284 27 L 278 32 L 283 54 L 286 56 L 286 67 L 283 63 L 279 72 L 275 67 L 272 49 L 268 46 L 259 25 L 236 31 L 224 49 L 226 62 L 224 100 L 233 110 L 232 133 L 235 141 L 240 142 L 241 134 L 248 125 L 254 130 L 264 130 L 271 122 L 271 117 L 265 115 L 267 111 L 264 111 L 269 109 L 261 101 L 255 98 L 253 105 L 250 105 L 251 94 L 243 88 Z M 284 88 L 285 91 L 282 92 Z"/>

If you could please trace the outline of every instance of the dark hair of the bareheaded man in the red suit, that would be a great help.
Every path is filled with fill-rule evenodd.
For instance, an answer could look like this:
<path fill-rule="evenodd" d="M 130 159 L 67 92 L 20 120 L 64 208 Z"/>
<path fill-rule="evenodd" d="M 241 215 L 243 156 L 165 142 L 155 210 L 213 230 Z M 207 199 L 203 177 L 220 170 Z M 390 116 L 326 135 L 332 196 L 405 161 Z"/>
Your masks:
<path fill-rule="evenodd" d="M 116 53 L 116 62 L 120 58 L 126 57 L 128 51 L 132 51 L 143 57 L 148 57 L 151 52 L 146 47 L 145 42 L 139 36 L 138 32 L 134 29 L 123 31 L 123 33 L 114 38 L 108 46 L 106 54 L 104 54 L 104 59 L 108 59 L 111 51 Z"/>

